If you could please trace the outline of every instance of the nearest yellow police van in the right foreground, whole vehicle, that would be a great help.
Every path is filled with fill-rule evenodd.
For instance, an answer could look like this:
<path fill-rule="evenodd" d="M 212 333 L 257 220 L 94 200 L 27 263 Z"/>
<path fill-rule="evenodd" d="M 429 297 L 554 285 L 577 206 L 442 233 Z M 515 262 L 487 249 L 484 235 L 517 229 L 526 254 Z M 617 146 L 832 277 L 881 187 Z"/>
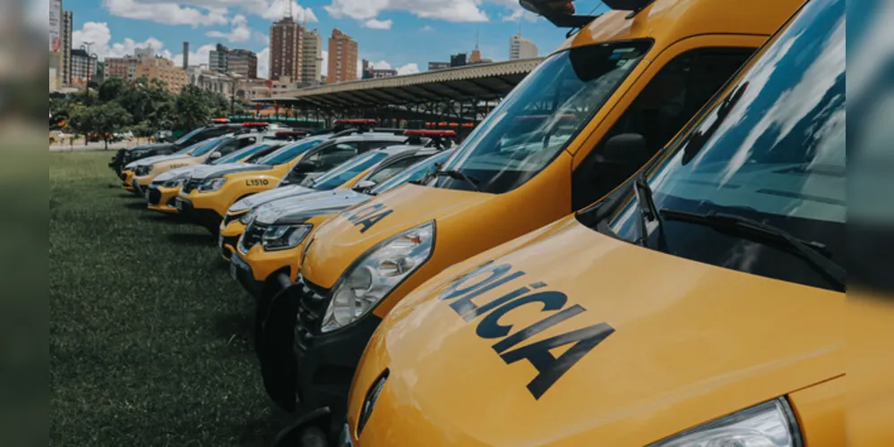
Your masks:
<path fill-rule="evenodd" d="M 410 293 L 338 445 L 849 444 L 845 22 L 810 0 L 618 190 Z"/>

